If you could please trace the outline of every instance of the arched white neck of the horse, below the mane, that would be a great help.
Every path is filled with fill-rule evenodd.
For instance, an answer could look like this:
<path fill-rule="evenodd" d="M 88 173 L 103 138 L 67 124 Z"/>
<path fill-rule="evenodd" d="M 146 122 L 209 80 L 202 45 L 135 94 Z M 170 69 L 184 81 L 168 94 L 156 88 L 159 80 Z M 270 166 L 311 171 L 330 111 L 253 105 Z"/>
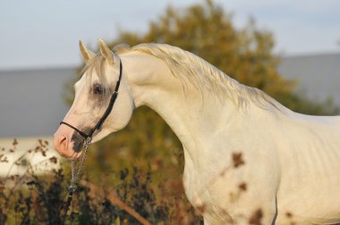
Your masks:
<path fill-rule="evenodd" d="M 136 106 L 147 105 L 174 130 L 184 148 L 200 145 L 235 112 L 234 104 L 183 84 L 162 60 L 149 55 L 122 56 Z"/>

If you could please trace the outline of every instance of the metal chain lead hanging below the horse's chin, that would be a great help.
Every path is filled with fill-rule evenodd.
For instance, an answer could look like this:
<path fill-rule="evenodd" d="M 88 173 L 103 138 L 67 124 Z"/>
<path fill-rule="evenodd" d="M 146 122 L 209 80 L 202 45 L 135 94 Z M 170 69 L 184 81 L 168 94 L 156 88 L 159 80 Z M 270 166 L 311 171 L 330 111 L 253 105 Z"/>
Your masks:
<path fill-rule="evenodd" d="M 68 188 L 68 195 L 67 195 L 67 200 L 66 203 L 64 204 L 64 216 L 63 216 L 63 224 L 65 224 L 65 220 L 66 220 L 66 216 L 67 216 L 67 212 L 70 208 L 71 202 L 72 202 L 72 196 L 73 193 L 75 191 L 75 187 L 77 186 L 77 181 L 81 175 L 81 171 L 82 168 L 84 167 L 84 162 L 86 159 L 86 153 L 88 151 L 89 145 L 91 144 L 92 141 L 92 137 L 87 137 L 85 139 L 85 143 L 84 143 L 84 149 L 83 149 L 83 154 L 81 157 L 81 163 L 78 167 L 78 171 L 76 172 L 76 165 L 78 160 L 72 160 L 72 164 L 71 164 L 71 175 L 72 175 L 72 179 L 71 179 L 71 184 Z"/>

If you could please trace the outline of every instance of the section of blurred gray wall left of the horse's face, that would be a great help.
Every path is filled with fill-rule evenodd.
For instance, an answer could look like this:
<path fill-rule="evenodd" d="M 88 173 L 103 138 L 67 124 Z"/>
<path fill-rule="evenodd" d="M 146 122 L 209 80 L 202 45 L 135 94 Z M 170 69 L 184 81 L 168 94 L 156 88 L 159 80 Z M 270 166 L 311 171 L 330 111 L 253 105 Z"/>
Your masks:
<path fill-rule="evenodd" d="M 52 135 L 68 106 L 64 84 L 74 68 L 0 71 L 0 137 Z"/>

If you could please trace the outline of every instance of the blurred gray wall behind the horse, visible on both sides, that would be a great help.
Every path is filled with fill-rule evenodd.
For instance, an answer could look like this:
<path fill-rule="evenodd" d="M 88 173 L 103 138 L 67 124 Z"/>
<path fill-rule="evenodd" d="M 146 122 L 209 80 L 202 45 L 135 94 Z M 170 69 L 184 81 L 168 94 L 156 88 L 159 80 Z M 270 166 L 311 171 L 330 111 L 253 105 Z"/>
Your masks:
<path fill-rule="evenodd" d="M 316 101 L 332 96 L 340 106 L 340 54 L 285 57 L 278 70 L 300 80 L 298 91 Z M 48 136 L 69 106 L 62 98 L 74 68 L 0 71 L 0 137 Z"/>

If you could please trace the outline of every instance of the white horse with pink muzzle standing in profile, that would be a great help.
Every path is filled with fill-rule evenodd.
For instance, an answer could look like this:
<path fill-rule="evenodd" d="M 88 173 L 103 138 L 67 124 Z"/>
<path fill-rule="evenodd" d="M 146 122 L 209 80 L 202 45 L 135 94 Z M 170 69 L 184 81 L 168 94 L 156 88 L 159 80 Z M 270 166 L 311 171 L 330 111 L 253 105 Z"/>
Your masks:
<path fill-rule="evenodd" d="M 205 224 L 340 222 L 340 118 L 292 112 L 200 57 L 174 46 L 81 44 L 87 63 L 64 121 L 87 132 L 109 104 L 123 64 L 119 96 L 98 141 L 123 129 L 148 105 L 183 144 L 183 185 Z M 62 124 L 55 149 L 81 155 L 83 137 Z"/>

